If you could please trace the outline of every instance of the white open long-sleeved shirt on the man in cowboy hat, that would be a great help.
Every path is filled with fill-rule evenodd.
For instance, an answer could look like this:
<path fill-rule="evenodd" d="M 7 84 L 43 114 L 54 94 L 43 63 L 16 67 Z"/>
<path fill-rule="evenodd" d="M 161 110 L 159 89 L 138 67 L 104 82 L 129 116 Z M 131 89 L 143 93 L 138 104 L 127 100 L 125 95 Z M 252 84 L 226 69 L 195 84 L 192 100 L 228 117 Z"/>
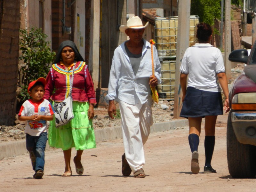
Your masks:
<path fill-rule="evenodd" d="M 105 97 L 106 102 L 109 100 L 122 100 L 128 104 L 135 105 L 137 103 L 143 104 L 151 97 L 149 86 L 149 76 L 152 75 L 151 44 L 145 39 L 143 39 L 143 42 L 140 67 L 136 76 L 125 51 L 125 42 L 116 48 L 110 69 L 108 94 Z M 153 46 L 153 54 L 155 76 L 158 84 L 160 84 L 161 64 L 155 46 Z"/>

